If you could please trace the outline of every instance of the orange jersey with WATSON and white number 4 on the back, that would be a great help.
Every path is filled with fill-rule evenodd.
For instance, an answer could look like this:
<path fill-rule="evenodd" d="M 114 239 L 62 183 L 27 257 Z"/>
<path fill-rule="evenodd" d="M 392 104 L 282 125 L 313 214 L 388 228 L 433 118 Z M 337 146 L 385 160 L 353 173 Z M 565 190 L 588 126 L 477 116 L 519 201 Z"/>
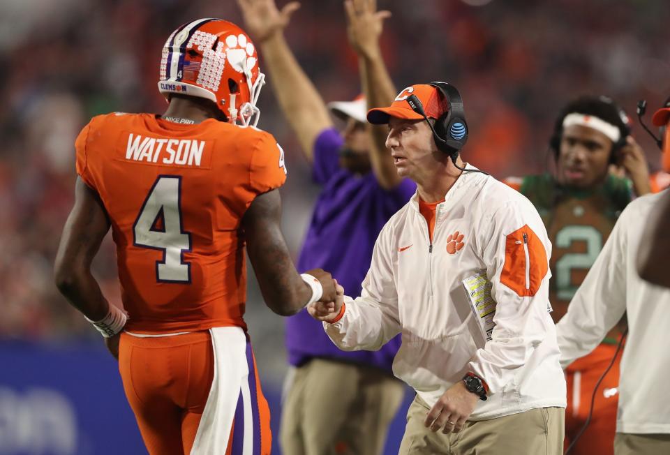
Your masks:
<path fill-rule="evenodd" d="M 77 142 L 77 174 L 112 223 L 128 331 L 246 330 L 241 218 L 286 179 L 274 137 L 208 119 L 94 117 Z"/>

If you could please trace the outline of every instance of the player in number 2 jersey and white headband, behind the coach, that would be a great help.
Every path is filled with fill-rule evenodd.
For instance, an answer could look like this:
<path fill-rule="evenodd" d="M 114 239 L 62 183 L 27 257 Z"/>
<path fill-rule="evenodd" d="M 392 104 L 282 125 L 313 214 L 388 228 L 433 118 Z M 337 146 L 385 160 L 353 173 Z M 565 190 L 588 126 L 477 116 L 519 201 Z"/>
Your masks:
<path fill-rule="evenodd" d="M 618 215 L 630 202 L 632 190 L 643 195 L 650 192 L 650 186 L 647 163 L 630 136 L 627 115 L 604 96 L 585 96 L 568 103 L 556 119 L 550 149 L 556 158 L 556 176 L 527 176 L 507 183 L 537 207 L 553 244 L 549 297 L 551 314 L 558 322 Z M 630 180 L 610 174 L 610 165 L 623 167 Z M 595 383 L 611 362 L 619 335 L 613 329 L 590 355 L 566 370 L 565 447 L 586 421 Z M 572 454 L 613 453 L 618 365 L 619 361 L 605 376 L 593 419 Z"/>

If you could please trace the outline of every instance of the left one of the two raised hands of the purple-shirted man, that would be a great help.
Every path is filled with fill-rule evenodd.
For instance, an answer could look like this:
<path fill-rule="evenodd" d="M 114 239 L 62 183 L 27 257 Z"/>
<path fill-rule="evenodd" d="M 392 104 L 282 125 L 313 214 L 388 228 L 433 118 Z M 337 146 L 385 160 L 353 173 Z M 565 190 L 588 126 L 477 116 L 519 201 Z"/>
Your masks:
<path fill-rule="evenodd" d="M 244 29 L 257 44 L 283 31 L 300 3 L 291 1 L 281 10 L 274 0 L 237 0 L 244 19 Z"/>

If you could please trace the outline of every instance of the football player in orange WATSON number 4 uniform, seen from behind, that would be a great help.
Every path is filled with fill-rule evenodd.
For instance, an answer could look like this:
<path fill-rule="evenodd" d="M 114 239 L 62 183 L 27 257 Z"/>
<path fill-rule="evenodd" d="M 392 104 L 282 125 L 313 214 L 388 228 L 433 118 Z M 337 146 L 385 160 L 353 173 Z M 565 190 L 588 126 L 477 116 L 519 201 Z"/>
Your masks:
<path fill-rule="evenodd" d="M 283 151 L 255 124 L 264 82 L 244 31 L 217 19 L 163 47 L 162 116 L 91 119 L 55 264 L 59 290 L 105 336 L 150 454 L 269 454 L 269 410 L 243 319 L 244 247 L 267 306 L 335 298 L 297 273 L 280 230 Z M 112 227 L 127 311 L 90 265 Z"/>

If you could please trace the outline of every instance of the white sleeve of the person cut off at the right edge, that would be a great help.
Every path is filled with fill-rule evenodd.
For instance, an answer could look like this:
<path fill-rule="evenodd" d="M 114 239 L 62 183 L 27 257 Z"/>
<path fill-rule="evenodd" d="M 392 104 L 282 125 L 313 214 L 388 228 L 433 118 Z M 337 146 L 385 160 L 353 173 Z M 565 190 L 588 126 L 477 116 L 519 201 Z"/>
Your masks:
<path fill-rule="evenodd" d="M 560 366 L 566 368 L 591 352 L 626 311 L 626 225 L 619 216 L 600 255 L 556 325 Z"/>

